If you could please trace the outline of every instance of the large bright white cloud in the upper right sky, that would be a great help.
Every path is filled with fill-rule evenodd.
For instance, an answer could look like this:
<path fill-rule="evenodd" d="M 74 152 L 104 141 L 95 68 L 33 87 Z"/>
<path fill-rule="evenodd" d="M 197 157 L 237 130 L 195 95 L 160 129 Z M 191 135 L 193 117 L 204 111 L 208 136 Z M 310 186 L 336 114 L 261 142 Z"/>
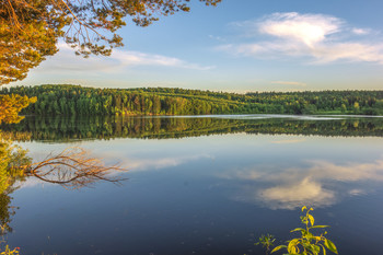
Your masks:
<path fill-rule="evenodd" d="M 219 50 L 257 58 L 304 57 L 306 62 L 312 63 L 343 60 L 383 65 L 383 44 L 364 38 L 370 34 L 369 30 L 351 27 L 335 16 L 274 13 L 258 21 L 235 25 L 246 30 L 246 35 L 267 35 L 268 39 L 222 45 L 218 47 Z"/>

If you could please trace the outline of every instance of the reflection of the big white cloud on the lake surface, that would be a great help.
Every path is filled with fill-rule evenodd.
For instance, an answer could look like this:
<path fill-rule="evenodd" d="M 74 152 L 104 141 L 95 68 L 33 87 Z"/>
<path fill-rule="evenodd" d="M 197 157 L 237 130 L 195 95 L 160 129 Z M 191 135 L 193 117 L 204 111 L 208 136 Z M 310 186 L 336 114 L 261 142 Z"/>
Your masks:
<path fill-rule="evenodd" d="M 382 160 L 344 164 L 306 160 L 303 163 L 304 167 L 277 171 L 253 167 L 229 172 L 220 177 L 252 182 L 240 187 L 236 197 L 239 200 L 262 204 L 270 209 L 289 210 L 305 205 L 315 208 L 330 206 L 345 196 L 367 195 L 383 183 Z"/>

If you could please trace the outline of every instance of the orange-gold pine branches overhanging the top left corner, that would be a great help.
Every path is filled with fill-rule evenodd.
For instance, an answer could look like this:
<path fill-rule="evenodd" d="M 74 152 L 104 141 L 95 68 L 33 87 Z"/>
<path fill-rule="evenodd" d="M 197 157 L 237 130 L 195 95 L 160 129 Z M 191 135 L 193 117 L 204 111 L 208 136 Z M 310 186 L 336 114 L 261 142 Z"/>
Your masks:
<path fill-rule="evenodd" d="M 216 5 L 221 0 L 200 0 Z M 148 26 L 162 15 L 189 11 L 189 0 L 2 0 L 0 85 L 22 80 L 58 51 L 62 38 L 77 55 L 111 55 L 126 18 Z"/>

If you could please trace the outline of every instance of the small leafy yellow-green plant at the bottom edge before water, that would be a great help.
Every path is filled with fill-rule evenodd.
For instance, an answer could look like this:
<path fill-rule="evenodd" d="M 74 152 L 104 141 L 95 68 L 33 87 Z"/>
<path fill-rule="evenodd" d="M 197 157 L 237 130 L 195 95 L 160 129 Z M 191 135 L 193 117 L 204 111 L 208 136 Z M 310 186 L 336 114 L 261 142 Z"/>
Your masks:
<path fill-rule="evenodd" d="M 288 241 L 288 245 L 279 245 L 275 247 L 271 253 L 277 252 L 281 248 L 287 248 L 288 254 L 302 254 L 302 255 L 318 255 L 321 254 L 321 247 L 323 255 L 326 255 L 326 248 L 335 254 L 338 254 L 338 251 L 335 244 L 326 239 L 324 235 L 326 231 L 321 235 L 314 235 L 310 232 L 313 229 L 324 229 L 328 225 L 314 225 L 314 217 L 310 215 L 310 211 L 313 208 L 307 209 L 302 207 L 302 212 L 305 212 L 305 216 L 301 216 L 301 221 L 305 224 L 305 228 L 297 228 L 290 232 L 301 232 L 302 236 Z"/>

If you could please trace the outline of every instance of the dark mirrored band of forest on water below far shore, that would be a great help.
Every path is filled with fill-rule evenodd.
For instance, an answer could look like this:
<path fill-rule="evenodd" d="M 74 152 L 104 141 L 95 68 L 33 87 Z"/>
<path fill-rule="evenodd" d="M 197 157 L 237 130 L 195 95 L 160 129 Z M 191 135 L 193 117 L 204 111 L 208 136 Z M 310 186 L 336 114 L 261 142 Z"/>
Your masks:
<path fill-rule="evenodd" d="M 3 135 L 18 141 L 71 142 L 89 139 L 174 139 L 246 132 L 326 137 L 383 137 L 383 119 L 299 120 L 211 117 L 26 117 L 2 125 Z"/>

